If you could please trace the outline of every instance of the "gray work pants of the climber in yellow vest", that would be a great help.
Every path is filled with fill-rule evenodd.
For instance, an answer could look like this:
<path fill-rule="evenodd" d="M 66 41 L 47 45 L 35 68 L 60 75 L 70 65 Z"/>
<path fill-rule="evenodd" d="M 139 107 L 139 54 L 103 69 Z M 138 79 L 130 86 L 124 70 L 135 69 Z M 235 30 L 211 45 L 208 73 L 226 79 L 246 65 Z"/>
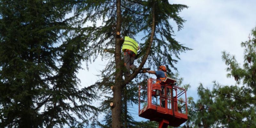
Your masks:
<path fill-rule="evenodd" d="M 130 69 L 132 70 L 136 69 L 136 66 L 133 64 L 135 60 L 135 53 L 131 50 L 124 52 L 124 66 L 126 68 L 126 75 L 130 74 Z"/>

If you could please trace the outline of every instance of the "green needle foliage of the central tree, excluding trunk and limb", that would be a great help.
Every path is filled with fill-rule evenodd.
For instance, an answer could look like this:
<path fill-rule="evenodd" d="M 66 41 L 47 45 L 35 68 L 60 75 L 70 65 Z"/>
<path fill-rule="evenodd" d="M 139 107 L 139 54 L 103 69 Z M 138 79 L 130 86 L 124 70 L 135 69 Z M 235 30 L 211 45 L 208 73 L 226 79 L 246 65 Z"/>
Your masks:
<path fill-rule="evenodd" d="M 76 3 L 76 15 L 84 16 L 77 23 L 79 29 L 76 33 L 81 36 L 90 36 L 88 47 L 85 50 L 86 56 L 91 62 L 96 58 L 101 57 L 102 60 L 107 60 L 105 68 L 100 72 L 102 79 L 94 85 L 99 88 L 99 93 L 102 96 L 104 92 L 105 98 L 102 100 L 102 104 L 99 107 L 99 111 L 96 112 L 93 120 L 93 127 L 100 126 L 102 128 L 111 127 L 111 116 L 109 103 L 113 101 L 112 90 L 109 88 L 115 83 L 122 83 L 124 79 L 116 81 L 115 73 L 119 71 L 125 71 L 125 67 L 121 69 L 116 68 L 116 63 L 121 64 L 123 61 L 116 62 L 115 54 L 116 48 L 116 28 L 117 24 L 117 5 L 116 0 L 84 0 L 77 1 Z M 150 53 L 147 63 L 144 67 L 152 67 L 157 65 L 167 65 L 167 69 L 172 74 L 171 68 L 176 69 L 173 64 L 179 59 L 180 52 L 190 50 L 176 41 L 174 36 L 174 30 L 171 26 L 170 20 L 176 22 L 178 30 L 183 27 L 185 20 L 179 16 L 179 12 L 184 8 L 188 8 L 186 5 L 170 4 L 167 0 L 122 0 L 121 1 L 121 37 L 130 36 L 132 38 L 138 36 L 139 33 L 144 33 L 142 36 L 143 41 L 138 41 L 141 50 L 136 56 L 136 62 L 141 63 L 146 50 L 150 44 L 150 34 L 152 27 L 155 27 L 155 36 L 153 37 L 153 44 L 150 47 Z M 156 25 L 152 26 L 153 10 L 155 10 Z M 99 21 L 102 23 L 99 24 Z M 91 26 L 84 24 L 92 23 Z M 118 51 L 119 53 L 121 51 Z M 173 57 L 174 56 L 174 57 Z M 123 59 L 123 55 L 121 57 Z M 136 63 L 135 62 L 135 63 Z M 123 64 L 122 64 L 123 65 Z M 170 65 L 170 67 L 168 66 Z M 143 66 L 143 65 L 142 65 Z M 129 81 L 128 84 L 120 85 L 124 86 L 122 89 L 122 117 L 124 127 L 136 127 L 136 121 L 127 111 L 129 106 L 133 106 L 138 103 L 138 84 L 142 79 L 147 78 L 145 74 L 139 74 L 134 82 Z M 106 113 L 105 124 L 97 121 L 97 115 L 100 112 Z"/>

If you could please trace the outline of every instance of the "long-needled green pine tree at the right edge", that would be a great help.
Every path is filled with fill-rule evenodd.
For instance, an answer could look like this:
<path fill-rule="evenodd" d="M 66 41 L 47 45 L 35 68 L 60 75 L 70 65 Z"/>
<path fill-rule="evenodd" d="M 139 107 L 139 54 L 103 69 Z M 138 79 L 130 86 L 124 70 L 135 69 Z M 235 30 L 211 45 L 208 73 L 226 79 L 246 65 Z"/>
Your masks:
<path fill-rule="evenodd" d="M 234 77 L 236 85 L 221 85 L 214 82 L 213 89 L 198 87 L 199 100 L 190 104 L 190 127 L 255 127 L 256 126 L 256 28 L 252 38 L 242 42 L 244 64 L 235 56 L 222 52 L 228 66 L 227 77 Z"/>

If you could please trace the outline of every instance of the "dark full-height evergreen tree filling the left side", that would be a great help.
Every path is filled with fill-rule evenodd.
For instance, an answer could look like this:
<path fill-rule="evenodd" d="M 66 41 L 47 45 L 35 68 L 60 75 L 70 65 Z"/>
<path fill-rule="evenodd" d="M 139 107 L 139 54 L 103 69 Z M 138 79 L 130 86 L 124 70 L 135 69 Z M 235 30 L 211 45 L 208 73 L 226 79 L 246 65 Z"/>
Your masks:
<path fill-rule="evenodd" d="M 0 127 L 88 123 L 94 89 L 79 90 L 76 73 L 89 36 L 65 18 L 75 2 L 0 0 Z"/>

